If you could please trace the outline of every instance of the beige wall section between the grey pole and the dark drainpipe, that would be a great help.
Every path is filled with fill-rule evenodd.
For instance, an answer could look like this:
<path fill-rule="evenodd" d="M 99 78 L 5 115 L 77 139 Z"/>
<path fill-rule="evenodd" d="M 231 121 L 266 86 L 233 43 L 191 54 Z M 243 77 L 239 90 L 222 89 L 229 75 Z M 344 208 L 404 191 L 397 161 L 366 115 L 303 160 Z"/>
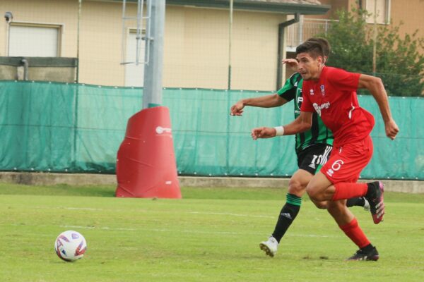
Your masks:
<path fill-rule="evenodd" d="M 167 6 L 166 17 L 164 85 L 227 88 L 228 11 Z M 235 11 L 232 89 L 274 90 L 283 21 L 283 15 Z"/>

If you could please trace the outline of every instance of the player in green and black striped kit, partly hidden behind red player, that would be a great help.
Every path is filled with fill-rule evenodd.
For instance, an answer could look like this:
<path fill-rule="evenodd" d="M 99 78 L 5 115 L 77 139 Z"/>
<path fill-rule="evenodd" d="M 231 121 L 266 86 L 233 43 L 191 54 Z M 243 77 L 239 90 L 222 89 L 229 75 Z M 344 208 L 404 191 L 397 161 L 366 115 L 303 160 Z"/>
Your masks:
<path fill-rule="evenodd" d="M 329 56 L 330 47 L 325 40 L 316 39 L 319 44 L 323 44 L 323 49 L 326 52 L 326 57 Z M 298 62 L 295 59 L 283 60 L 283 63 L 288 64 L 295 68 Z M 302 77 L 299 73 L 293 74 L 286 82 L 285 85 L 278 90 L 277 94 L 266 95 L 264 97 L 256 97 L 250 99 L 242 99 L 231 107 L 232 116 L 241 116 L 245 106 L 259 106 L 264 108 L 282 106 L 291 100 L 295 104 L 295 118 L 300 114 L 300 106 L 302 104 Z M 286 202 L 281 209 L 276 227 L 271 237 L 268 240 L 261 242 L 259 246 L 261 250 L 266 252 L 266 255 L 273 257 L 277 250 L 278 245 L 283 238 L 283 235 L 290 227 L 290 224 L 295 220 L 300 210 L 302 203 L 302 195 L 305 194 L 305 189 L 310 179 L 314 174 L 319 171 L 326 160 L 328 159 L 332 145 L 333 134 L 322 123 L 321 118 L 314 114 L 312 118 L 312 128 L 305 133 L 295 135 L 296 145 L 295 150 L 298 156 L 298 167 L 290 178 L 288 194 L 286 195 Z M 326 209 L 325 202 L 314 202 L 317 207 Z M 356 197 L 348 200 L 347 206 L 353 205 L 362 206 L 367 209 L 368 202 L 364 197 Z"/>

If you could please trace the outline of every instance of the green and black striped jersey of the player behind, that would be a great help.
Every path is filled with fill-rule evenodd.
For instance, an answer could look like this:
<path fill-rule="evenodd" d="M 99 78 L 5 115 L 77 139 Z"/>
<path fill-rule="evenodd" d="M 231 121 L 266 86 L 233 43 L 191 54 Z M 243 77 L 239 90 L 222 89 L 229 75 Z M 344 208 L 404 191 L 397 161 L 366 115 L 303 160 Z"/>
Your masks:
<path fill-rule="evenodd" d="M 300 115 L 300 106 L 302 105 L 302 76 L 299 73 L 293 74 L 281 90 L 278 90 L 278 95 L 287 101 L 295 100 L 295 118 Z M 296 134 L 296 153 L 314 144 L 333 145 L 333 133 L 326 128 L 321 118 L 314 112 L 312 115 L 312 127 L 304 133 Z"/>

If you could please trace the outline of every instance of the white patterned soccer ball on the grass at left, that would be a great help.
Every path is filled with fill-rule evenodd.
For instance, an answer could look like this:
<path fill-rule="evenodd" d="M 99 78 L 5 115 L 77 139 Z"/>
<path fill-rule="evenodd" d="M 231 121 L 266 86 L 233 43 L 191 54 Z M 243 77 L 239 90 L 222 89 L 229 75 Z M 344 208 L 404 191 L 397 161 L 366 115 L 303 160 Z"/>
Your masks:
<path fill-rule="evenodd" d="M 87 250 L 86 239 L 76 231 L 65 231 L 54 241 L 54 250 L 58 257 L 66 262 L 81 259 Z"/>

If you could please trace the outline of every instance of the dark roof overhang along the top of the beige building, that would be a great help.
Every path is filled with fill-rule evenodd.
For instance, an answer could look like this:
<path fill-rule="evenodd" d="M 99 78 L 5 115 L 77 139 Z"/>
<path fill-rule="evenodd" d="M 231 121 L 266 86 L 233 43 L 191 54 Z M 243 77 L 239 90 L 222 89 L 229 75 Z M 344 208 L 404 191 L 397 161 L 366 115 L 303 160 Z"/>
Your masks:
<path fill-rule="evenodd" d="M 109 0 L 111 1 L 111 0 Z M 122 2 L 122 0 L 112 0 Z M 136 3 L 137 0 L 126 0 Z M 199 8 L 230 8 L 230 0 L 166 0 L 168 5 L 192 6 Z M 300 13 L 301 15 L 322 15 L 329 11 L 330 5 L 285 3 L 283 1 L 233 0 L 235 10 L 262 11 L 271 13 Z"/>

